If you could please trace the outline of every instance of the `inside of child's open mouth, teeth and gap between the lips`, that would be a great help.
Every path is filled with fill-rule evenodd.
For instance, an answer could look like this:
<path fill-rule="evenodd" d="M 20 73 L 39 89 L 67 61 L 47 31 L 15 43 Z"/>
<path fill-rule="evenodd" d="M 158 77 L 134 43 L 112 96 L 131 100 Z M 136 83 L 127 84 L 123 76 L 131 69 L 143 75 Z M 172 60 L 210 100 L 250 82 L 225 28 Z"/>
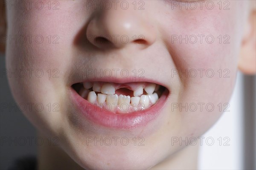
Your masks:
<path fill-rule="evenodd" d="M 74 84 L 73 88 L 83 99 L 97 107 L 120 114 L 152 107 L 165 90 L 163 86 L 149 82 L 84 82 Z"/>

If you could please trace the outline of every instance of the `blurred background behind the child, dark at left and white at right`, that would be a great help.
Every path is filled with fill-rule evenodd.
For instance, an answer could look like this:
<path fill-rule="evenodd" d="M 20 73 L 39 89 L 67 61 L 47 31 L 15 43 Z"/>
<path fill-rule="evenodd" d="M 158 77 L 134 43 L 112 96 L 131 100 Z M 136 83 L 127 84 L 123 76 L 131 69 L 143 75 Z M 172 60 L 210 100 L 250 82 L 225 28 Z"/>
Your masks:
<path fill-rule="evenodd" d="M 37 136 L 35 128 L 19 110 L 15 111 L 15 108 L 11 108 L 9 111 L 3 108 L 4 103 L 15 106 L 7 77 L 2 73 L 5 69 L 3 55 L 0 56 L 0 68 L 0 169 L 5 170 L 15 158 L 37 154 Z M 255 91 L 255 77 L 244 76 L 239 72 L 229 102 L 229 112 L 224 112 L 218 122 L 201 136 L 204 138 L 198 158 L 199 169 L 256 169 Z M 5 141 L 9 138 L 13 140 L 10 143 Z M 31 139 L 31 143 L 24 144 L 23 138 Z"/>

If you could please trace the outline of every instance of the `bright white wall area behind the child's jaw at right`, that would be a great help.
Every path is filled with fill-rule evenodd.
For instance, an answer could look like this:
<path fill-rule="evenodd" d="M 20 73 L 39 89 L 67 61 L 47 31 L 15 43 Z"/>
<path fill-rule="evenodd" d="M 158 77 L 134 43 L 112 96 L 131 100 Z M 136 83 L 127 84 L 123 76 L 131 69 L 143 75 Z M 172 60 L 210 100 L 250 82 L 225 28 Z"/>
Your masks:
<path fill-rule="evenodd" d="M 214 144 L 211 144 L 211 140 L 208 144 L 205 140 L 202 142 L 202 146 L 199 151 L 198 168 L 200 170 L 238 170 L 242 167 L 242 74 L 239 72 L 237 75 L 236 86 L 230 100 L 230 112 L 224 112 L 218 122 L 205 133 L 203 136 L 212 137 Z M 220 141 L 218 140 L 221 137 Z M 224 146 L 224 137 L 230 139 L 227 144 L 230 146 Z"/>

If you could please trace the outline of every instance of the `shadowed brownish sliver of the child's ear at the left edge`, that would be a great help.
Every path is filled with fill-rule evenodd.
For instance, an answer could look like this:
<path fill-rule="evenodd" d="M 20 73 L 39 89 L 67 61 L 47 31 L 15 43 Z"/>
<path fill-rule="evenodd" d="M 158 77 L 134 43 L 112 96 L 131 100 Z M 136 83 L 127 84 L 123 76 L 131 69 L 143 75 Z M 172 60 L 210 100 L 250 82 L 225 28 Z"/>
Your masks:
<path fill-rule="evenodd" d="M 5 41 L 2 40 L 2 38 L 5 36 L 6 36 L 6 11 L 5 11 L 5 6 L 1 4 L 0 5 L 0 53 L 5 52 Z"/>

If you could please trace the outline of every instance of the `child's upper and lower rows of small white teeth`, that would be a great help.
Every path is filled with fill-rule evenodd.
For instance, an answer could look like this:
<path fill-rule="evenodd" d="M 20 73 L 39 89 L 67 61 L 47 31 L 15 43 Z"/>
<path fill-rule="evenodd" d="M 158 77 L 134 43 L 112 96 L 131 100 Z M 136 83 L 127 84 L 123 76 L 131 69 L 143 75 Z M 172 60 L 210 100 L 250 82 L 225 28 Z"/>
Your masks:
<path fill-rule="evenodd" d="M 119 96 L 115 94 L 115 87 L 111 83 L 105 83 L 100 85 L 98 82 L 84 82 L 84 88 L 79 91 L 79 94 L 87 99 L 90 103 L 96 103 L 98 106 L 111 105 L 111 111 L 120 113 L 129 113 L 132 111 L 143 110 L 154 105 L 159 99 L 157 91 L 159 85 L 154 83 L 147 84 L 144 88 L 143 86 L 137 87 L 134 90 L 134 96 L 125 96 L 120 94 Z M 92 91 L 89 90 L 92 88 Z M 143 94 L 143 89 L 147 93 Z M 96 92 L 99 92 L 96 94 Z M 118 111 L 115 111 L 116 108 Z"/>

